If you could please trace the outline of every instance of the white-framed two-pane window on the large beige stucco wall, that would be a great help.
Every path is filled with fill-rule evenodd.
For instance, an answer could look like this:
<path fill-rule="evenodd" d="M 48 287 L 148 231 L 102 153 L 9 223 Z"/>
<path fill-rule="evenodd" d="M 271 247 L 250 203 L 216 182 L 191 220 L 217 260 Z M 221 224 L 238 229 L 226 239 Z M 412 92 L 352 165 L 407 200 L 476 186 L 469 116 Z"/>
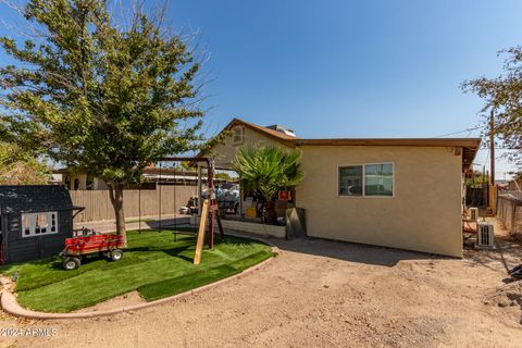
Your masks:
<path fill-rule="evenodd" d="M 394 164 L 339 166 L 339 196 L 394 196 Z"/>

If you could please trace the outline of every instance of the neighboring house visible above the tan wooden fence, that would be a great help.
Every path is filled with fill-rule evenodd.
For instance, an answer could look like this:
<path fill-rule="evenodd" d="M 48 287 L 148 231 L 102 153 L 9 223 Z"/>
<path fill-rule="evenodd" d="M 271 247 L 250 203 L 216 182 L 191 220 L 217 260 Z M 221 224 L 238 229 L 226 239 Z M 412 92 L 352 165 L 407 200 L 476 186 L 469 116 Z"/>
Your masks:
<path fill-rule="evenodd" d="M 202 177 L 203 182 L 206 179 L 206 177 Z M 219 178 L 214 181 L 221 182 Z M 196 186 L 197 183 L 198 173 L 194 170 L 183 171 L 172 167 L 148 166 L 144 170 L 144 184 L 141 187 L 154 189 L 157 184 Z M 54 171 L 53 184 L 64 185 L 70 190 L 108 189 L 107 184 L 101 178 L 78 174 L 67 169 Z M 137 187 L 130 186 L 128 188 Z"/>

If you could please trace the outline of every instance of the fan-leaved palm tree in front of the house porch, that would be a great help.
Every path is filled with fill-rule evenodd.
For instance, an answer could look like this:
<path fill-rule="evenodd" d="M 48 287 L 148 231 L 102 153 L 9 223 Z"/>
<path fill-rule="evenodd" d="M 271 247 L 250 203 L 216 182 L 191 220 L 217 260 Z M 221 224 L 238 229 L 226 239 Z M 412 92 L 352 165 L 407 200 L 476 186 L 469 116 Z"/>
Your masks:
<path fill-rule="evenodd" d="M 302 179 L 299 170 L 301 152 L 271 145 L 239 148 L 234 170 L 246 191 L 257 191 L 265 201 L 265 222 L 275 223 L 275 197 L 281 189 L 289 189 Z"/>

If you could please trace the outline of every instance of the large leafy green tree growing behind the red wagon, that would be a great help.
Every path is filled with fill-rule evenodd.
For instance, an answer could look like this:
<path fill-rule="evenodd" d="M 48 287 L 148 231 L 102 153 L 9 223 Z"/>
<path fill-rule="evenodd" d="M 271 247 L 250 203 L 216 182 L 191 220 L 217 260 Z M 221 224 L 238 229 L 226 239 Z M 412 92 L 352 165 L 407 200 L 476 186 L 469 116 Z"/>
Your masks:
<path fill-rule="evenodd" d="M 0 67 L 0 104 L 21 146 L 107 183 L 126 244 L 123 187 L 200 140 L 199 64 L 163 28 L 162 13 L 136 10 L 122 25 L 108 9 L 107 0 L 30 0 L 20 9 L 38 35 L 0 38 L 20 62 Z"/>

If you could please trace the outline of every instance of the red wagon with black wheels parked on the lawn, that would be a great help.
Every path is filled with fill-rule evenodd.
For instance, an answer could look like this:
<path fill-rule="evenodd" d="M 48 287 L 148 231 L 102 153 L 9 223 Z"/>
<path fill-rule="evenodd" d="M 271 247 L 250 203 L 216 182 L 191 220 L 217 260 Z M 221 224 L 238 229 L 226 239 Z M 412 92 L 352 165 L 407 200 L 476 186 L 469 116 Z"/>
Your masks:
<path fill-rule="evenodd" d="M 97 234 L 94 231 L 83 231 L 84 236 L 65 239 L 65 249 L 60 252 L 62 266 L 70 271 L 79 268 L 82 257 L 98 253 L 112 261 L 123 258 L 123 238 L 114 234 Z"/>

